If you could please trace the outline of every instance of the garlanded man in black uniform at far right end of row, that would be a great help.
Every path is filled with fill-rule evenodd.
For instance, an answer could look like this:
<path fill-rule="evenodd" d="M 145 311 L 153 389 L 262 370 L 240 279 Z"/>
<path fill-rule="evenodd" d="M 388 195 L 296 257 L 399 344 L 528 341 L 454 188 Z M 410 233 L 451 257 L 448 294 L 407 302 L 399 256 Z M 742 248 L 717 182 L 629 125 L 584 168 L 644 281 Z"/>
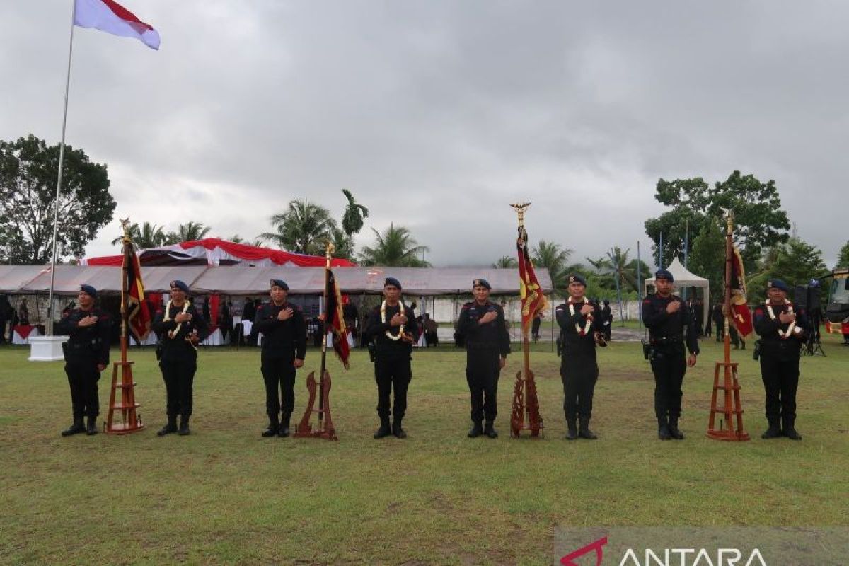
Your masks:
<path fill-rule="evenodd" d="M 796 388 L 799 358 L 809 330 L 804 309 L 787 300 L 788 287 L 781 279 L 767 282 L 767 300 L 755 309 L 755 332 L 761 337 L 761 378 L 767 392 L 769 428 L 761 438 L 786 436 L 801 440 L 796 432 Z"/>

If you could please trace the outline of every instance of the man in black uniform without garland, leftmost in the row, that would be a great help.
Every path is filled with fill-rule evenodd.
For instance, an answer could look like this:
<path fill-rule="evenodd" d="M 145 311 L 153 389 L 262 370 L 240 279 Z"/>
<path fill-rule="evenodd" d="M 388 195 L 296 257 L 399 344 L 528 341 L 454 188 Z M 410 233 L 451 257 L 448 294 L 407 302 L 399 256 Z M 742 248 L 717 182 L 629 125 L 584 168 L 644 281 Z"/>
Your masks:
<path fill-rule="evenodd" d="M 81 285 L 76 294 L 78 308 L 69 311 L 59 321 L 56 332 L 70 336 L 62 344 L 65 373 L 70 384 L 70 404 L 74 423 L 62 431 L 62 436 L 85 432 L 97 434 L 95 426 L 100 412 L 98 380 L 100 372 L 109 365 L 110 317 L 94 306 L 98 291 L 91 285 Z M 83 415 L 88 417 L 82 426 Z"/>

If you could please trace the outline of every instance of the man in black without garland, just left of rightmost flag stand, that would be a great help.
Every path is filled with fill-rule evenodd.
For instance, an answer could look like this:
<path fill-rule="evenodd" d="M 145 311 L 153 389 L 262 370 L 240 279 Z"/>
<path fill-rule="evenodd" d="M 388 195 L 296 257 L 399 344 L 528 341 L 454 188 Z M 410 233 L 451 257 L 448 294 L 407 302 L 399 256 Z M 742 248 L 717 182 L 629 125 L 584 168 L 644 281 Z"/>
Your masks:
<path fill-rule="evenodd" d="M 681 386 L 687 367 L 695 365 L 699 340 L 692 317 L 681 297 L 672 294 L 672 273 L 655 272 L 655 294 L 643 301 L 643 323 L 649 328 L 651 371 L 655 374 L 655 416 L 661 440 L 683 440 L 678 429 L 681 417 Z M 685 356 L 684 348 L 689 350 Z"/>

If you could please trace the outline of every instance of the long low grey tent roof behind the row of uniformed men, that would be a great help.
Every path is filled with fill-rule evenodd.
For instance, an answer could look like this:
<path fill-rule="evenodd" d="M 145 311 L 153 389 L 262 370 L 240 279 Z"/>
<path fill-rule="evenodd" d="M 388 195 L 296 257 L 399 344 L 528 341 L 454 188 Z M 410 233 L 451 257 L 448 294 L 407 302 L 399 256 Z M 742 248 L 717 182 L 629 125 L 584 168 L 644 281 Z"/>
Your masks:
<path fill-rule="evenodd" d="M 519 271 L 492 267 L 346 267 L 335 269 L 340 290 L 346 294 L 380 294 L 385 277 L 400 280 L 408 296 L 470 294 L 472 281 L 484 278 L 493 294 L 518 294 Z M 543 293 L 552 289 L 548 270 L 537 269 Z M 291 294 L 321 294 L 323 267 L 251 266 L 143 266 L 144 289 L 166 293 L 168 283 L 180 279 L 193 294 L 249 295 L 268 292 L 268 281 L 284 279 Z M 98 292 L 121 292 L 120 266 L 56 266 L 53 293 L 74 295 L 80 285 L 92 285 Z M 0 293 L 40 294 L 50 287 L 50 268 L 44 266 L 0 266 Z"/>

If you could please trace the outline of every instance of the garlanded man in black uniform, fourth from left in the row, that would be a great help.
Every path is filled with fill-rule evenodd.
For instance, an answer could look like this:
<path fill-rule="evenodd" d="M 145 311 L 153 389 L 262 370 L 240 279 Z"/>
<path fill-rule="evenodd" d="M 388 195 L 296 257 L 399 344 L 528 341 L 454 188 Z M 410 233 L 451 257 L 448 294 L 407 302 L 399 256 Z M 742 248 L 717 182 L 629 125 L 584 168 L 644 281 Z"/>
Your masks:
<path fill-rule="evenodd" d="M 366 335 L 374 342 L 374 381 L 377 382 L 377 414 L 380 428 L 374 438 L 394 434 L 406 438 L 402 420 L 407 412 L 407 387 L 413 372 L 410 360 L 413 342 L 419 338 L 419 327 L 413 309 L 401 302 L 401 282 L 386 277 L 383 284 L 384 301 L 368 317 Z M 403 311 L 402 311 L 403 307 Z M 389 395 L 394 391 L 392 427 L 389 426 Z"/>

